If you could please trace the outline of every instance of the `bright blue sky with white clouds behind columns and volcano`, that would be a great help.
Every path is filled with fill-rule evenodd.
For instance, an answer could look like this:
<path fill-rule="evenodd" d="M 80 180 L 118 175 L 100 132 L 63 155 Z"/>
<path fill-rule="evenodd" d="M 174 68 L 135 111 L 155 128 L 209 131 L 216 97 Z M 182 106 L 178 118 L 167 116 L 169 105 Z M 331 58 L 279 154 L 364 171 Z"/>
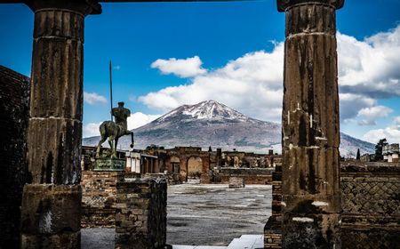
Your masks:
<path fill-rule="evenodd" d="M 114 105 L 132 109 L 131 128 L 208 99 L 280 121 L 284 13 L 276 1 L 102 6 L 85 20 L 86 136 L 109 116 L 108 60 Z M 352 0 L 337 13 L 341 130 L 360 139 L 400 141 L 399 9 L 397 0 Z M 0 64 L 30 75 L 32 30 L 27 6 L 0 4 Z"/>

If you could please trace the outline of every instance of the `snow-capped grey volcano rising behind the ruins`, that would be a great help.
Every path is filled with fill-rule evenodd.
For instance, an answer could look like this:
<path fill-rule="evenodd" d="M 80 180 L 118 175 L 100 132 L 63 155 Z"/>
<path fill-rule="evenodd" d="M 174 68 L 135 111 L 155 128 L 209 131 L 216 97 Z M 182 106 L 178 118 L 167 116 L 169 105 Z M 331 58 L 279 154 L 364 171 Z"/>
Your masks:
<path fill-rule="evenodd" d="M 133 130 L 135 148 L 144 149 L 150 144 L 172 148 L 198 146 L 267 153 L 268 149 L 281 151 L 281 125 L 260 121 L 228 108 L 219 102 L 208 100 L 196 105 L 184 105 L 173 109 Z M 341 133 L 340 154 L 355 155 L 372 153 L 373 144 L 360 141 Z M 85 138 L 84 145 L 96 145 L 99 137 Z M 129 138 L 120 140 L 123 149 L 129 148 Z"/>

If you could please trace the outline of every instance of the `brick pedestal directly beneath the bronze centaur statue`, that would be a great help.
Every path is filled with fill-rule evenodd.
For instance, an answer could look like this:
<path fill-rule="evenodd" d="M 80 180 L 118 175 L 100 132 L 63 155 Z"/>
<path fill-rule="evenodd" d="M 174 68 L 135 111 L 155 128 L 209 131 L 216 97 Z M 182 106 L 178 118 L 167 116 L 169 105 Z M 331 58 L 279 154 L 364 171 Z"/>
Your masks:
<path fill-rule="evenodd" d="M 120 172 L 82 172 L 83 228 L 115 227 L 116 181 L 122 178 Z"/>

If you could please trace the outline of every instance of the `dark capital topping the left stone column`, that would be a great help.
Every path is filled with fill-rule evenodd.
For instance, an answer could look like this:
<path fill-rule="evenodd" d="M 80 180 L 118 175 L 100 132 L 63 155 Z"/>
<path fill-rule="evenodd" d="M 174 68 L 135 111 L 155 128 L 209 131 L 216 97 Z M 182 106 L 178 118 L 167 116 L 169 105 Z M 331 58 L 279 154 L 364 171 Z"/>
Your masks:
<path fill-rule="evenodd" d="M 25 4 L 33 12 L 53 9 L 78 12 L 84 16 L 101 13 L 101 5 L 98 0 L 27 0 Z"/>

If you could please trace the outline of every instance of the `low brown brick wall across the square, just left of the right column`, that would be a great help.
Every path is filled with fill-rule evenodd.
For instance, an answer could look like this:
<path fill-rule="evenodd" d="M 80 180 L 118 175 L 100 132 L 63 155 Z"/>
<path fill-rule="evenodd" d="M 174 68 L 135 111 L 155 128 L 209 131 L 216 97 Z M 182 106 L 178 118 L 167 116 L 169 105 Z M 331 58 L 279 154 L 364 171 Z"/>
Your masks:
<path fill-rule="evenodd" d="M 274 168 L 220 168 L 214 171 L 211 181 L 229 184 L 229 179 L 236 177 L 243 178 L 245 185 L 271 184 L 273 172 Z"/>

